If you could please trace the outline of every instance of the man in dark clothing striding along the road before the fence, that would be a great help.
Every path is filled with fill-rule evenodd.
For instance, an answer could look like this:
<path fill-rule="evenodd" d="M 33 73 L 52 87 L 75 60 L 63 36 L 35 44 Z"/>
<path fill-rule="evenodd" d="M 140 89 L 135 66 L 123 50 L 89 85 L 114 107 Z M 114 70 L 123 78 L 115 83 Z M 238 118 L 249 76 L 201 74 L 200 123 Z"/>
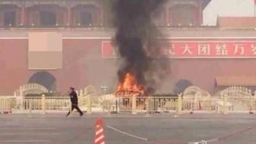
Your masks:
<path fill-rule="evenodd" d="M 71 111 L 68 111 L 67 115 L 68 116 L 74 109 L 77 109 L 77 111 L 80 113 L 80 116 L 83 116 L 84 113 L 81 111 L 81 109 L 78 108 L 78 99 L 77 99 L 77 93 L 75 92 L 74 88 L 70 88 L 70 100 L 71 100 Z"/>

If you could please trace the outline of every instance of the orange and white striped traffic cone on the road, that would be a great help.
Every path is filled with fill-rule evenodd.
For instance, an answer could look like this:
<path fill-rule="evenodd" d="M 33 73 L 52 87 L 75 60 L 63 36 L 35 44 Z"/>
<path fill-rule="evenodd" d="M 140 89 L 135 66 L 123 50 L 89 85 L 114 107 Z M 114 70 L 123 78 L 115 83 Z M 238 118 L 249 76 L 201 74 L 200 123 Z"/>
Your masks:
<path fill-rule="evenodd" d="M 96 120 L 95 144 L 105 144 L 103 134 L 103 122 L 101 118 Z"/>

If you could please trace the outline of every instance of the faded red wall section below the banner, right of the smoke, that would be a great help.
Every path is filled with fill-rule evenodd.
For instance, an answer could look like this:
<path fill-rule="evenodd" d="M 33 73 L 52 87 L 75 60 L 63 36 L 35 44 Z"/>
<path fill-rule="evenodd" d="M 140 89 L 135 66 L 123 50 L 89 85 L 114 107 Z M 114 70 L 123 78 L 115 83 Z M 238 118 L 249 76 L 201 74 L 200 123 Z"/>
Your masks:
<path fill-rule="evenodd" d="M 216 92 L 218 76 L 255 76 L 256 59 L 180 59 L 172 61 L 173 81 L 188 79 L 195 86 Z"/>

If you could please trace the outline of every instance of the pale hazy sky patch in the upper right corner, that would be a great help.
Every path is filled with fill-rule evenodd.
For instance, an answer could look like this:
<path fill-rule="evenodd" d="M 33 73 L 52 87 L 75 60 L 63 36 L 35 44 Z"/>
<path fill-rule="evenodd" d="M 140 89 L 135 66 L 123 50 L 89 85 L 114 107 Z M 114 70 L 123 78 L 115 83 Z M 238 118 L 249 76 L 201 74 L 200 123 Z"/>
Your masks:
<path fill-rule="evenodd" d="M 254 0 L 212 0 L 204 10 L 204 24 L 216 25 L 219 16 L 253 16 Z"/>

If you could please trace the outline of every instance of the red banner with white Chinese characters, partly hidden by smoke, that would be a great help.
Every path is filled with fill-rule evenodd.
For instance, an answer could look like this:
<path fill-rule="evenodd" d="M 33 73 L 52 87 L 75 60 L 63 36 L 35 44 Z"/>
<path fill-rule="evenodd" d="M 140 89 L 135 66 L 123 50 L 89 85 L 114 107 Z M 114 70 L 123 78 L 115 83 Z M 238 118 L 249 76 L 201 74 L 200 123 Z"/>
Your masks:
<path fill-rule="evenodd" d="M 256 58 L 255 41 L 169 41 L 163 42 L 168 58 Z M 102 58 L 116 58 L 110 41 L 102 42 Z"/>

